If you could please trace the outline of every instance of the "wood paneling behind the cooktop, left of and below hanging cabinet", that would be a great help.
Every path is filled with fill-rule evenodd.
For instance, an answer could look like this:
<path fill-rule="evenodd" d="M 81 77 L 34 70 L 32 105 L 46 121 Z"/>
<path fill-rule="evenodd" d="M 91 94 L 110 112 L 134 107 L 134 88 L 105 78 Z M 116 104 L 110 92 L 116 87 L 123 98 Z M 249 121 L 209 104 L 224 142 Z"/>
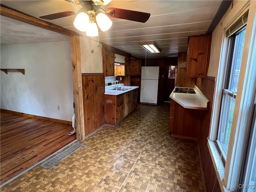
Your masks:
<path fill-rule="evenodd" d="M 180 68 L 180 64 L 186 62 L 187 53 L 178 53 L 178 68 L 177 68 L 177 87 L 194 87 L 196 78 L 186 78 L 186 68 Z"/>

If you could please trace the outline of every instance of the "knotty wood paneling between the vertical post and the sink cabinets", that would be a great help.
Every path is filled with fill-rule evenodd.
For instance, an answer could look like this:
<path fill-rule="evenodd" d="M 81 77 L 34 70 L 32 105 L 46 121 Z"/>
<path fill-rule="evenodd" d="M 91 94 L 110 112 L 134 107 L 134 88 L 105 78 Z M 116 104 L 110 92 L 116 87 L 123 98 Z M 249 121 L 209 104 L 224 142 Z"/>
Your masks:
<path fill-rule="evenodd" d="M 105 124 L 104 87 L 103 74 L 82 74 L 85 135 Z"/>

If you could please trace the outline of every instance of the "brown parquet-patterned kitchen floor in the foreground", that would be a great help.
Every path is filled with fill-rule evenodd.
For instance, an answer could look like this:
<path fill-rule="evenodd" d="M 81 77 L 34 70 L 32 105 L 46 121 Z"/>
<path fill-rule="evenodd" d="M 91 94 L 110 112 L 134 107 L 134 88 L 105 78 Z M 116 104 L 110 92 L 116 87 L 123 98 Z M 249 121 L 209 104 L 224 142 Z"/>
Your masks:
<path fill-rule="evenodd" d="M 169 106 L 141 105 L 53 170 L 40 166 L 2 192 L 204 192 L 197 142 L 169 136 Z M 78 141 L 77 141 L 78 142 Z"/>

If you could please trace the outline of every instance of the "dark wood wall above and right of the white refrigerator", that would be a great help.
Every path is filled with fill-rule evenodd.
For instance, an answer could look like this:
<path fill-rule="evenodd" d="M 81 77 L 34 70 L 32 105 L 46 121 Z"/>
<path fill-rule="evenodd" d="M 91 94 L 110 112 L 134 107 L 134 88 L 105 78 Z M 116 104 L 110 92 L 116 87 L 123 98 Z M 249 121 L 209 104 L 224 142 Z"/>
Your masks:
<path fill-rule="evenodd" d="M 157 103 L 164 103 L 166 91 L 166 82 L 168 78 L 168 66 L 177 65 L 177 58 L 158 58 L 147 59 L 146 66 L 159 66 L 158 98 Z M 145 66 L 145 60 L 142 60 L 142 66 Z"/>

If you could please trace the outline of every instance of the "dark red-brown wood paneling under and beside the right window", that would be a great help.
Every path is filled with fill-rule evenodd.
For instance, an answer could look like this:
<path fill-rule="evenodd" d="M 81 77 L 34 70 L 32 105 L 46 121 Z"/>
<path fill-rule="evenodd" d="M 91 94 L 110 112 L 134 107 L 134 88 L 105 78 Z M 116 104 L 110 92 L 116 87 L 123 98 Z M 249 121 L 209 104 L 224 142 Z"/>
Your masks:
<path fill-rule="evenodd" d="M 198 145 L 200 148 L 200 155 L 202 160 L 202 168 L 204 170 L 204 179 L 206 182 L 206 189 L 208 192 L 220 192 L 220 186 L 218 183 L 218 178 L 216 176 L 216 172 L 214 170 L 212 158 L 210 156 L 210 152 L 207 146 L 207 137 L 209 135 L 210 129 L 210 118 L 212 112 L 212 101 L 213 101 L 213 93 L 215 86 L 215 78 L 207 77 L 207 78 L 198 78 L 196 82 L 196 86 L 203 92 L 203 94 L 210 101 L 209 109 L 207 111 L 201 111 L 201 119 L 199 126 L 199 136 L 198 136 Z"/>

